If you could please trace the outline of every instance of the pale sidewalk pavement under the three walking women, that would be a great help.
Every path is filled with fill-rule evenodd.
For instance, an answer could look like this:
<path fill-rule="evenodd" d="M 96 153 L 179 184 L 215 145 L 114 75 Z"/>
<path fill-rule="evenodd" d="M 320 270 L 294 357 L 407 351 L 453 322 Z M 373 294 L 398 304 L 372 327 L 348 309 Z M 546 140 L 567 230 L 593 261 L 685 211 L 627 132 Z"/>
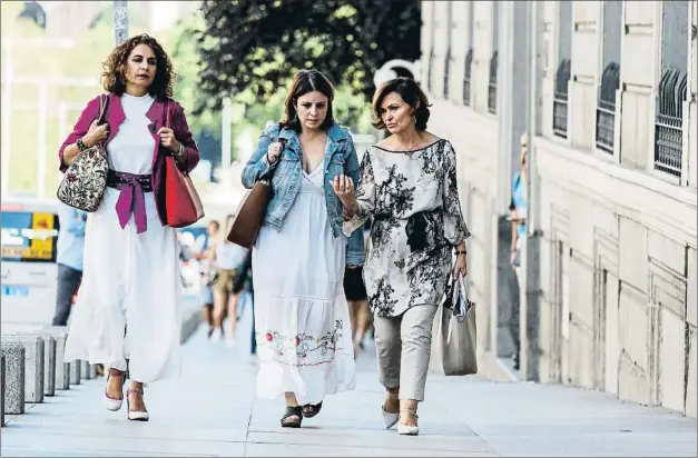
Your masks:
<path fill-rule="evenodd" d="M 101 405 L 104 379 L 28 405 L 2 428 L 1 455 L 98 456 L 619 456 L 695 457 L 696 420 L 562 386 L 430 375 L 421 432 L 382 426 L 375 357 L 357 360 L 356 389 L 328 397 L 302 429 L 282 429 L 283 401 L 255 397 L 248 312 L 236 347 L 183 348 L 183 377 L 146 388 L 149 422 Z"/>

